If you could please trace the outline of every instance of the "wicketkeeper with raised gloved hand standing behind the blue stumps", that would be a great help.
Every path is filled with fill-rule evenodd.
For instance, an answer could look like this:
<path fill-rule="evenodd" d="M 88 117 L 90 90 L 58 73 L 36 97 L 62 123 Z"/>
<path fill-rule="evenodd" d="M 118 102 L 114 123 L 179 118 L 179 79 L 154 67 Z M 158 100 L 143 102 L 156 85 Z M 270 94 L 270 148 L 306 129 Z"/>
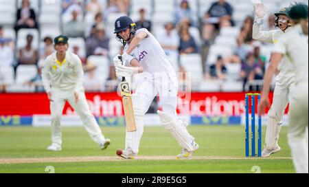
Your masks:
<path fill-rule="evenodd" d="M 291 29 L 290 26 L 292 23 L 288 16 L 289 8 L 282 8 L 278 13 L 275 13 L 275 28 L 279 28 L 279 30 L 261 31 L 260 26 L 266 14 L 266 12 L 263 12 L 263 6 L 262 3 L 255 6 L 255 21 L 253 23 L 252 38 L 262 42 L 277 43 L 279 37 Z M 293 64 L 290 63 L 290 58 L 288 58 L 288 56 L 284 56 L 277 66 L 273 104 L 268 111 L 265 137 L 266 146 L 262 151 L 262 157 L 268 157 L 281 150 L 278 145 L 279 133 L 282 127 L 284 111 L 288 105 L 290 89 L 294 83 L 295 70 Z"/>

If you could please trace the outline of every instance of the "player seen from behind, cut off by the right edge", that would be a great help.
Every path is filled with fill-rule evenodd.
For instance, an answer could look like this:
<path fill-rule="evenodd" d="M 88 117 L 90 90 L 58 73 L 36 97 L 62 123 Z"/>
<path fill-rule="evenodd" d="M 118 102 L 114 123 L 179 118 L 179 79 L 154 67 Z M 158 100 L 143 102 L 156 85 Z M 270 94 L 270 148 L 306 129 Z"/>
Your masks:
<path fill-rule="evenodd" d="M 297 173 L 308 173 L 308 5 L 298 4 L 290 8 L 293 28 L 279 37 L 275 43 L 271 64 L 266 70 L 259 111 L 269 106 L 268 90 L 277 65 L 288 56 L 295 67 L 295 85 L 290 90 L 288 144 Z"/>

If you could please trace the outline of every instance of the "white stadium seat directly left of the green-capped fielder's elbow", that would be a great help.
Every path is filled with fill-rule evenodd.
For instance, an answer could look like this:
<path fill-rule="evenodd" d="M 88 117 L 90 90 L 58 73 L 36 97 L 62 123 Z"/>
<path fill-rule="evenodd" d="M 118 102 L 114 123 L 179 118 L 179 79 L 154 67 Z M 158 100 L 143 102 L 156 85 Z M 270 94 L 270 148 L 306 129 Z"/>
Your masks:
<path fill-rule="evenodd" d="M 16 69 L 16 83 L 22 85 L 36 76 L 36 65 L 19 65 Z"/>

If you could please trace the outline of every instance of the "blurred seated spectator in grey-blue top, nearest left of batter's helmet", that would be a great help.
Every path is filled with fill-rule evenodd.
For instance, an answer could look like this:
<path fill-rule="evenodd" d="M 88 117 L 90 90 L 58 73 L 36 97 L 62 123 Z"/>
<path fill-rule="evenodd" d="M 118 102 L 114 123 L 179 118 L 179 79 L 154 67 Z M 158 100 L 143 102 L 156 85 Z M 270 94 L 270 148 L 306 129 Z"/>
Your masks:
<path fill-rule="evenodd" d="M 108 55 L 109 38 L 106 36 L 103 25 L 98 25 L 97 28 L 95 28 L 95 35 L 87 39 L 86 48 L 87 57 L 91 55 Z"/>

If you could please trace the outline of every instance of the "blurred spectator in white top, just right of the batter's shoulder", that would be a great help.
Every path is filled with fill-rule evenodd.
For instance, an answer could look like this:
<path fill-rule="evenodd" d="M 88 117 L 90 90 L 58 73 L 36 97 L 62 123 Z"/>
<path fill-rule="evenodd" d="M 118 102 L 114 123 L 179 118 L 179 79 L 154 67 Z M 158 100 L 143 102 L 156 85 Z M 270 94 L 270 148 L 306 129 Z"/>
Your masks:
<path fill-rule="evenodd" d="M 177 32 L 174 32 L 174 24 L 168 22 L 164 25 L 165 32 L 159 34 L 157 37 L 161 44 L 165 54 L 168 56 L 178 56 L 179 36 Z"/>

